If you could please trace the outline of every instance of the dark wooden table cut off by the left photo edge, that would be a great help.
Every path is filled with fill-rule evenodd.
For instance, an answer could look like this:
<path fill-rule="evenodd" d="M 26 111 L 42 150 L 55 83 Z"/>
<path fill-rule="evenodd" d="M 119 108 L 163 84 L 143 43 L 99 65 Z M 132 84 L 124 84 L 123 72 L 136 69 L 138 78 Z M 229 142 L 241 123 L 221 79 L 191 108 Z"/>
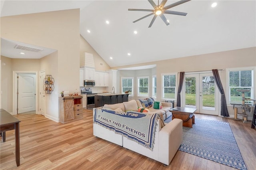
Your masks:
<path fill-rule="evenodd" d="M 5 142 L 5 132 L 15 129 L 15 160 L 20 166 L 20 121 L 4 109 L 0 109 L 0 132 Z"/>

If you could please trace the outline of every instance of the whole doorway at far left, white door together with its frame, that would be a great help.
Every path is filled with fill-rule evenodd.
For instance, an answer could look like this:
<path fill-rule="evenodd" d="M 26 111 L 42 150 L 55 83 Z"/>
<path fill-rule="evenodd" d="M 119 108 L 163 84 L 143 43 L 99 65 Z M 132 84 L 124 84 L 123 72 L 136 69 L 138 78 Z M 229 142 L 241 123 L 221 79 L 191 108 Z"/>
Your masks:
<path fill-rule="evenodd" d="M 37 72 L 14 71 L 13 112 L 36 113 Z"/>

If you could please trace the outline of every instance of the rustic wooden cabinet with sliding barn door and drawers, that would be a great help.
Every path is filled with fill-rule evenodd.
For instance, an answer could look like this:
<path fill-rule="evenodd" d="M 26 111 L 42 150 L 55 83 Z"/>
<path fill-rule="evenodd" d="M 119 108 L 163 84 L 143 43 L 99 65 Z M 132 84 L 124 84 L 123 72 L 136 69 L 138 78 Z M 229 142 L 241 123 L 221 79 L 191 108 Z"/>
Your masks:
<path fill-rule="evenodd" d="M 67 96 L 59 98 L 60 123 L 68 123 L 83 119 L 82 96 Z"/>

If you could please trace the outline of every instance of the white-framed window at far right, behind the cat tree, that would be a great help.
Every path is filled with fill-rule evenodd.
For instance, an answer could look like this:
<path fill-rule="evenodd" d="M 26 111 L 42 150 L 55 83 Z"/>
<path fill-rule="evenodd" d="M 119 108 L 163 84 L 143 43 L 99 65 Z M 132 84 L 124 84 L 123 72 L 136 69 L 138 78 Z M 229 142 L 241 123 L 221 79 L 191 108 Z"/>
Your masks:
<path fill-rule="evenodd" d="M 248 90 L 244 93 L 245 98 L 253 99 L 253 69 L 229 69 L 228 79 L 230 104 L 242 104 L 242 92 L 237 91 L 238 89 Z"/>

